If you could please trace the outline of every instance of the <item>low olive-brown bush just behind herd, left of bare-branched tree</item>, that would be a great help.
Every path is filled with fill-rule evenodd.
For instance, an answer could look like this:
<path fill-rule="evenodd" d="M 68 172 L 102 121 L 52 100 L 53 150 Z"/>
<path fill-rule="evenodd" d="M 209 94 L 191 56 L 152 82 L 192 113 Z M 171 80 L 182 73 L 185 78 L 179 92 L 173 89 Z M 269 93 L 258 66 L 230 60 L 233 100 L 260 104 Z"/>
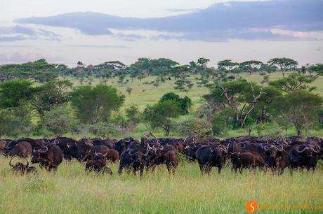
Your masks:
<path fill-rule="evenodd" d="M 212 135 L 212 126 L 206 120 L 191 118 L 180 123 L 178 131 L 182 136 L 195 136 L 199 141 Z"/>

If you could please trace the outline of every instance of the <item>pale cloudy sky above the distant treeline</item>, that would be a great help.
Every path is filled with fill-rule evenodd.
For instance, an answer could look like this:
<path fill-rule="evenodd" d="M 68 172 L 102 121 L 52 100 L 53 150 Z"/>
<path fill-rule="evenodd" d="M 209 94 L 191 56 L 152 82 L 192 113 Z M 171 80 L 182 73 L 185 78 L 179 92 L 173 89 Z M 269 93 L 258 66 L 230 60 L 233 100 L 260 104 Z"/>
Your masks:
<path fill-rule="evenodd" d="M 323 62 L 323 1 L 0 0 L 0 64 Z"/>

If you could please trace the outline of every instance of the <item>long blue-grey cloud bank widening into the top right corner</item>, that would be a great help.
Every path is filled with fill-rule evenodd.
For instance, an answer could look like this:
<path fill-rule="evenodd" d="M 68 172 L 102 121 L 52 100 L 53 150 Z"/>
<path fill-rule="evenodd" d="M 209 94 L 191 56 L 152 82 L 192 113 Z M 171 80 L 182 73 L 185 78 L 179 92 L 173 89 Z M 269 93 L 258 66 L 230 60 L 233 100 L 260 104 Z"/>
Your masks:
<path fill-rule="evenodd" d="M 176 33 L 150 36 L 155 39 L 227 41 L 238 38 L 294 41 L 312 40 L 314 38 L 310 36 L 310 31 L 323 30 L 322 8 L 322 0 L 232 1 L 170 17 L 133 18 L 78 12 L 51 17 L 29 17 L 18 22 L 69 27 L 91 36 L 113 34 L 126 40 L 145 36 L 114 34 L 110 29 Z"/>

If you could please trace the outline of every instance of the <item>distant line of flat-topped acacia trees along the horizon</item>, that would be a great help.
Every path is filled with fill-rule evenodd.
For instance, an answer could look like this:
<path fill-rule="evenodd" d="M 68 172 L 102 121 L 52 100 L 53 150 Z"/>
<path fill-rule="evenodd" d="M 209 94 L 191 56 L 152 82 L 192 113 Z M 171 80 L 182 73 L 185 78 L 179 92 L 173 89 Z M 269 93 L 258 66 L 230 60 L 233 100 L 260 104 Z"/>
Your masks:
<path fill-rule="evenodd" d="M 85 65 L 77 62 L 77 66 L 68 67 L 65 64 L 48 64 L 45 59 L 23 64 L 4 64 L 0 66 L 0 80 L 13 78 L 25 78 L 39 83 L 53 80 L 58 76 L 78 78 L 81 84 L 92 83 L 93 78 L 99 78 L 101 83 L 107 83 L 110 78 L 118 78 L 118 83 L 126 84 L 134 78 L 142 80 L 147 76 L 156 76 L 152 85 L 158 87 L 159 83 L 166 80 L 176 80 L 174 88 L 178 90 L 190 90 L 192 82 L 187 80 L 192 74 L 199 74 L 198 85 L 206 85 L 210 79 L 219 77 L 221 80 L 234 80 L 240 73 L 260 73 L 263 81 L 268 82 L 270 73 L 286 71 L 298 71 L 300 73 L 323 73 L 323 65 L 315 64 L 298 67 L 298 62 L 289 58 L 273 58 L 267 63 L 256 60 L 246 62 L 232 62 L 226 59 L 218 62 L 216 67 L 208 66 L 209 59 L 201 57 L 190 64 L 180 65 L 171 59 L 139 58 L 137 62 L 126 66 L 119 61 L 104 62 L 97 65 Z"/>

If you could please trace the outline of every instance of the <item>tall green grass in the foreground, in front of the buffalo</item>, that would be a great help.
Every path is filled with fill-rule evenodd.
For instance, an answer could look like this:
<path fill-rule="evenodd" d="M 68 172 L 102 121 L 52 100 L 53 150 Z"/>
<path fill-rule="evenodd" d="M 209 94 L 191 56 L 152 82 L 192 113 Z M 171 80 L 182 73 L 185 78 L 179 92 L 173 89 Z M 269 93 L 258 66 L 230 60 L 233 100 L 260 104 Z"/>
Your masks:
<path fill-rule="evenodd" d="M 202 177 L 196 163 L 181 162 L 176 176 L 165 166 L 154 173 L 112 176 L 84 172 L 84 164 L 63 162 L 57 173 L 37 176 L 11 173 L 0 157 L 0 213 L 246 213 L 247 201 L 264 205 L 322 205 L 322 168 L 315 173 L 262 171 L 242 175 L 227 166 L 218 175 Z M 262 212 L 261 212 L 262 211 Z M 258 213 L 322 213 L 321 210 L 258 210 Z"/>

